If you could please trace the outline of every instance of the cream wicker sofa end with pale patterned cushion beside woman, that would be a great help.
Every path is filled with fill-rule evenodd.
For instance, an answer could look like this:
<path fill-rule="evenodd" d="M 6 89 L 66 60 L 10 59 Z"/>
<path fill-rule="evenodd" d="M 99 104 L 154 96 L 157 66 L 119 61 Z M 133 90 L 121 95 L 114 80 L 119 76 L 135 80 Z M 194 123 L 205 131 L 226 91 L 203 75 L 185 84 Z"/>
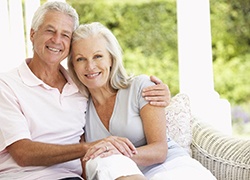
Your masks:
<path fill-rule="evenodd" d="M 250 180 L 250 139 L 222 134 L 195 117 L 183 93 L 171 98 L 165 112 L 167 135 L 218 180 Z"/>

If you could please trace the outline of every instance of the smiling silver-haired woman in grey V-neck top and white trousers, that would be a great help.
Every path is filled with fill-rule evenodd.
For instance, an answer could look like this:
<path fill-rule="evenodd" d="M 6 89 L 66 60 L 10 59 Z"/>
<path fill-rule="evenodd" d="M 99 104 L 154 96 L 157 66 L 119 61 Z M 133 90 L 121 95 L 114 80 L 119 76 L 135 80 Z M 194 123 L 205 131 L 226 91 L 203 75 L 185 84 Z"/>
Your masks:
<path fill-rule="evenodd" d="M 127 75 L 121 47 L 109 29 L 100 23 L 80 25 L 72 37 L 68 66 L 78 87 L 84 92 L 87 89 L 90 95 L 85 126 L 87 142 L 109 136 L 126 137 L 137 147 L 137 153 L 130 159 L 148 179 L 215 179 L 166 137 L 164 108 L 152 106 L 142 97 L 142 89 L 153 83 L 146 75 Z M 115 174 L 116 167 L 123 164 L 122 155 L 96 158 L 88 154 L 93 153 L 84 158 L 87 175 L 106 168 Z M 112 173 L 106 177 L 112 179 Z"/>

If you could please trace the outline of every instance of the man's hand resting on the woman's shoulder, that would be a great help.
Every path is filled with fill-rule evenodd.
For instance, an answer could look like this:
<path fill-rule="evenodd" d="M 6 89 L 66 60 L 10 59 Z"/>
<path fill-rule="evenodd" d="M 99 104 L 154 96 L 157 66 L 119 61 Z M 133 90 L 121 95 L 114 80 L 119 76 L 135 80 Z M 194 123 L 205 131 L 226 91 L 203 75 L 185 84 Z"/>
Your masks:
<path fill-rule="evenodd" d="M 156 85 L 144 88 L 142 96 L 153 106 L 168 106 L 171 99 L 168 86 L 155 76 L 150 76 L 150 80 Z"/>

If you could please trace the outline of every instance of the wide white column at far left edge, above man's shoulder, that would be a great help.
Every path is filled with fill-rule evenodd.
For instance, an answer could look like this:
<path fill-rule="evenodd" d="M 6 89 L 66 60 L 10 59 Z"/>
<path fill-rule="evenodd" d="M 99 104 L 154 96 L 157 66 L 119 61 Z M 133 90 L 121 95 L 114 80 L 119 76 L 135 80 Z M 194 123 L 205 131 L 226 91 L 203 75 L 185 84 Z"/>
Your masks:
<path fill-rule="evenodd" d="M 0 23 L 0 72 L 5 72 L 25 58 L 22 0 L 0 1 Z"/>

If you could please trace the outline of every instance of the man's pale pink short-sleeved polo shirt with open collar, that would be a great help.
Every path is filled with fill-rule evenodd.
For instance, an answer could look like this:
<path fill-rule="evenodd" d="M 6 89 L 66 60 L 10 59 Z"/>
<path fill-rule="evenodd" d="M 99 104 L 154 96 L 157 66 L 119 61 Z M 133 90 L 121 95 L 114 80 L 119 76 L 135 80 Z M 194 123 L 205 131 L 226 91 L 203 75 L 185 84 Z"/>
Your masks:
<path fill-rule="evenodd" d="M 81 175 L 80 160 L 50 167 L 20 167 L 6 151 L 21 140 L 73 144 L 84 133 L 87 97 L 61 66 L 68 83 L 62 93 L 38 79 L 26 62 L 0 74 L 0 179 L 59 179 Z M 29 152 L 27 152 L 29 153 Z"/>

